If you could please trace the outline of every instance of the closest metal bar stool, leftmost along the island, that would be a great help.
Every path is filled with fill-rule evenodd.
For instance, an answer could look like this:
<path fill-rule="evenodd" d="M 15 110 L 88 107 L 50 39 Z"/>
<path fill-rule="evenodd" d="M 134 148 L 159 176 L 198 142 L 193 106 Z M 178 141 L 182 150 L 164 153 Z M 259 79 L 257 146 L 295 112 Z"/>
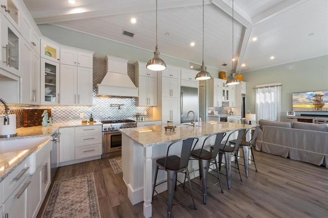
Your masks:
<path fill-rule="evenodd" d="M 170 148 L 172 146 L 174 147 L 174 146 L 179 145 L 180 143 L 178 143 L 178 142 L 182 142 L 180 157 L 178 157 L 176 155 L 170 155 L 169 156 Z M 193 190 L 192 190 L 192 187 L 191 187 L 191 180 L 190 180 L 189 171 L 188 171 L 188 163 L 189 163 L 191 148 L 193 147 L 193 144 L 197 144 L 197 142 L 198 142 L 198 138 L 186 138 L 186 139 L 181 139 L 181 140 L 174 141 L 169 145 L 166 157 L 159 158 L 159 159 L 156 160 L 157 168 L 156 168 L 156 172 L 155 172 L 155 180 L 154 180 L 152 199 L 154 198 L 154 192 L 156 191 L 155 187 L 162 184 L 162 183 L 164 183 L 164 182 L 168 182 L 168 202 L 167 202 L 167 204 L 168 204 L 168 217 L 172 216 L 172 207 L 173 207 L 173 205 L 176 205 L 176 204 L 179 204 L 183 201 L 186 201 L 190 197 L 193 200 L 194 209 L 195 210 L 197 209 L 196 205 L 195 205 L 195 202 L 194 202 L 194 198 L 193 198 Z M 163 181 L 163 182 L 156 185 L 158 169 L 167 171 L 168 180 Z M 175 191 L 175 188 L 176 188 L 176 181 L 177 181 L 177 173 L 178 172 L 186 172 L 186 175 L 187 175 L 187 178 L 188 178 L 188 183 L 189 183 L 189 186 L 190 186 L 191 195 L 188 198 L 186 198 L 186 199 L 184 199 L 184 200 L 182 200 L 178 203 L 173 204 L 174 191 Z M 182 184 L 181 182 L 179 182 L 179 183 Z M 157 191 L 156 191 L 156 193 L 157 193 Z"/>

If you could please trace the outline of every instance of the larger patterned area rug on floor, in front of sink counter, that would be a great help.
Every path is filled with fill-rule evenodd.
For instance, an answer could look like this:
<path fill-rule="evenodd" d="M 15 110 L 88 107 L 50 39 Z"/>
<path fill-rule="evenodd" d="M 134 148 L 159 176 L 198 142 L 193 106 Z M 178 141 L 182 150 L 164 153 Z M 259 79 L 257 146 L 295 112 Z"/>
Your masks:
<path fill-rule="evenodd" d="M 100 217 L 93 173 L 54 182 L 43 217 Z"/>

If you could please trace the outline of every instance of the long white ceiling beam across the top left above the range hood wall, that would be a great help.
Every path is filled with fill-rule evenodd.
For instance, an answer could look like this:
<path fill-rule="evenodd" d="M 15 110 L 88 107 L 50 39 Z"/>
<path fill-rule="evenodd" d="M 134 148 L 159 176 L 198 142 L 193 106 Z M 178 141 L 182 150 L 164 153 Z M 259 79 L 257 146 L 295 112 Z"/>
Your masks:
<path fill-rule="evenodd" d="M 210 0 L 204 4 L 211 4 Z M 199 0 L 172 1 L 158 4 L 158 10 L 202 5 Z M 31 12 L 36 24 L 48 24 L 58 21 L 85 19 L 116 14 L 135 13 L 155 10 L 155 4 L 149 1 L 131 1 L 128 5 L 125 1 L 113 1 L 101 4 L 91 4 L 84 7 L 65 8 L 57 10 Z"/>

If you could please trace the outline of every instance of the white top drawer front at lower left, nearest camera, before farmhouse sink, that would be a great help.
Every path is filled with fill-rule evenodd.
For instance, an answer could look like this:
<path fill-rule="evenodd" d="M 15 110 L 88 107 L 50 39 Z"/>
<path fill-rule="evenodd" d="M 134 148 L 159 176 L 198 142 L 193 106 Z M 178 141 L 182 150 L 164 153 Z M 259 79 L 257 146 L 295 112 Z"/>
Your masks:
<path fill-rule="evenodd" d="M 4 201 L 9 197 L 9 195 L 18 187 L 20 183 L 25 179 L 30 173 L 29 167 L 30 160 L 27 158 L 23 163 L 19 164 L 3 181 L 4 188 Z M 16 180 L 14 180 L 17 178 Z M 18 179 L 19 178 L 19 179 Z"/>

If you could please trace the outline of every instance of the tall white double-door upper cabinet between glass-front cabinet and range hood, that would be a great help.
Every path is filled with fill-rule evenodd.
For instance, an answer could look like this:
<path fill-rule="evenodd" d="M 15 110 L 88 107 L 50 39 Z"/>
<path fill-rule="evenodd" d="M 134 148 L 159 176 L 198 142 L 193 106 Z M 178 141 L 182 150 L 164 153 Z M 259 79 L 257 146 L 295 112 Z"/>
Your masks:
<path fill-rule="evenodd" d="M 92 105 L 92 69 L 60 64 L 61 105 Z"/>

